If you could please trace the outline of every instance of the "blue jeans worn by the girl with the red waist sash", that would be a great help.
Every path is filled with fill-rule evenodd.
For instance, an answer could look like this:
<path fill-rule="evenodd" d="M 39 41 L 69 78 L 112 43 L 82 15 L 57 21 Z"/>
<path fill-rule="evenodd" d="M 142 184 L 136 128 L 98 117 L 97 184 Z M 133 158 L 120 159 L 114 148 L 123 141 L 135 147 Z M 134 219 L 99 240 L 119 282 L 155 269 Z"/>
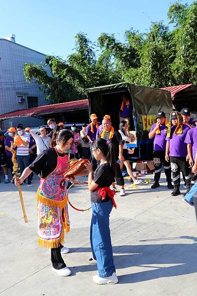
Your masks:
<path fill-rule="evenodd" d="M 91 202 L 91 206 L 90 244 L 92 255 L 97 260 L 99 276 L 105 278 L 115 272 L 110 236 L 110 213 L 113 203 L 111 200 L 102 203 Z"/>

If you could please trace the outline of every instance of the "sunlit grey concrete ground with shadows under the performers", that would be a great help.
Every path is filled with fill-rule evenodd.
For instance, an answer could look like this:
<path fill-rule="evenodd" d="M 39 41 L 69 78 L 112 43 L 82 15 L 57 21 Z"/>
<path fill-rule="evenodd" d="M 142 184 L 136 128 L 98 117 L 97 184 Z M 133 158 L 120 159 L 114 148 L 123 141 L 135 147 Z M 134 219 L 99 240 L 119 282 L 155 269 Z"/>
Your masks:
<path fill-rule="evenodd" d="M 2 177 L 1 172 L 1 181 Z M 153 181 L 153 175 L 147 178 Z M 65 246 L 70 253 L 63 258 L 72 275 L 61 277 L 52 272 L 50 250 L 37 243 L 38 182 L 36 176 L 32 186 L 21 186 L 28 223 L 23 219 L 17 187 L 0 183 L 2 296 L 197 295 L 195 210 L 181 200 L 181 195 L 170 196 L 164 173 L 157 189 L 150 189 L 151 184 L 128 188 L 131 184 L 126 181 L 126 196 L 115 195 L 117 210 L 111 214 L 111 235 L 119 283 L 103 286 L 93 283 L 97 265 L 88 262 L 91 210 L 77 212 L 69 207 L 71 230 Z M 87 186 L 71 189 L 70 200 L 75 206 L 88 207 Z"/>

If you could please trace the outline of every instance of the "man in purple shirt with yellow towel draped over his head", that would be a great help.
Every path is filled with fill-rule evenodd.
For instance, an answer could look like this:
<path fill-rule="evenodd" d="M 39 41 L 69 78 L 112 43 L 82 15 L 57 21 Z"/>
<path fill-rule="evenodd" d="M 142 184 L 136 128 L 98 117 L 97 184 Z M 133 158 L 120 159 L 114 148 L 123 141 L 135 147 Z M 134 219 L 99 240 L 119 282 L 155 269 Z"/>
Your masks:
<path fill-rule="evenodd" d="M 187 184 L 186 193 L 190 190 L 191 170 L 186 160 L 187 144 L 185 143 L 185 138 L 190 127 L 183 123 L 182 115 L 178 111 L 172 111 L 170 113 L 170 121 L 172 126 L 170 126 L 167 132 L 166 161 L 170 160 L 174 183 L 174 190 L 171 195 L 176 196 L 180 194 L 180 171 L 185 175 Z M 184 193 L 184 196 L 186 193 Z"/>

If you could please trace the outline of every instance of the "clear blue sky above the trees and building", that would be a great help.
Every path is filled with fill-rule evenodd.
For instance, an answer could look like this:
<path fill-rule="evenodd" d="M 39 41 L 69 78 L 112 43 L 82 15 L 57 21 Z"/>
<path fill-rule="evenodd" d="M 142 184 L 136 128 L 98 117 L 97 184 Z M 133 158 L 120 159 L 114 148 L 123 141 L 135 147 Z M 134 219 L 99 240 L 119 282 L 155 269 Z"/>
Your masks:
<path fill-rule="evenodd" d="M 173 0 L 7 0 L 0 4 L 0 38 L 16 35 L 16 42 L 45 54 L 66 57 L 75 35 L 84 32 L 91 41 L 102 33 L 123 40 L 133 27 L 145 32 L 151 21 L 168 24 Z M 181 0 L 191 4 L 192 0 Z"/>

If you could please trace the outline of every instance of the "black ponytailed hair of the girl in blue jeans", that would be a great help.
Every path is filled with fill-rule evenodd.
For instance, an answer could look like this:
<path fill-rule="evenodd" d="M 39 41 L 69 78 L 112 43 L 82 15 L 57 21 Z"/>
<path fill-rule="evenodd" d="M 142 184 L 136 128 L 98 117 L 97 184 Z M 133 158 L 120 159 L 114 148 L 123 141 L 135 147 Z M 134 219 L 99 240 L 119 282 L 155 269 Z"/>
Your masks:
<path fill-rule="evenodd" d="M 94 149 L 99 148 L 102 151 L 103 155 L 107 158 L 107 161 L 110 165 L 111 174 L 114 178 L 115 177 L 116 162 L 115 162 L 113 144 L 110 143 L 109 141 L 106 141 L 105 139 L 99 138 L 99 139 L 96 139 L 92 143 L 92 147 Z"/>

